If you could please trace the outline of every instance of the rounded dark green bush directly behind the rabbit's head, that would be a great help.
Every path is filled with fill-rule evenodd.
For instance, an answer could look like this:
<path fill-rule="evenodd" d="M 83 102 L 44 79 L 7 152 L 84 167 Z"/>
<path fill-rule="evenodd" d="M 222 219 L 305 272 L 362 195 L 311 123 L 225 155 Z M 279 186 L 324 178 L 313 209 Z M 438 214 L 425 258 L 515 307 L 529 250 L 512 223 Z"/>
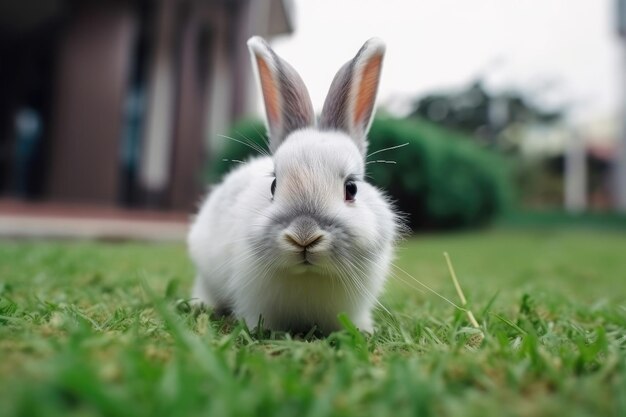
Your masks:
<path fill-rule="evenodd" d="M 224 144 L 211 164 L 211 180 L 230 170 L 236 163 L 232 161 L 258 154 L 252 148 L 267 149 L 264 132 L 262 122 L 237 123 L 229 136 L 239 142 L 227 140 Z M 424 121 L 378 118 L 369 138 L 370 154 L 408 143 L 369 157 L 367 172 L 407 214 L 413 230 L 477 226 L 505 208 L 510 189 L 506 162 L 464 135 Z"/>

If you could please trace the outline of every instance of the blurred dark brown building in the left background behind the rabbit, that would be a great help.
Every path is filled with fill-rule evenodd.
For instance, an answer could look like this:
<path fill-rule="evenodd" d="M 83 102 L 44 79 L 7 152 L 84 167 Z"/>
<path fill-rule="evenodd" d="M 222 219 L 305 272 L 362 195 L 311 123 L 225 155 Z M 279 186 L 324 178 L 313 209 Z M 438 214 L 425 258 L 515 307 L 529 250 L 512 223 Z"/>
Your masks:
<path fill-rule="evenodd" d="M 0 2 L 0 198 L 189 210 L 287 0 Z"/>

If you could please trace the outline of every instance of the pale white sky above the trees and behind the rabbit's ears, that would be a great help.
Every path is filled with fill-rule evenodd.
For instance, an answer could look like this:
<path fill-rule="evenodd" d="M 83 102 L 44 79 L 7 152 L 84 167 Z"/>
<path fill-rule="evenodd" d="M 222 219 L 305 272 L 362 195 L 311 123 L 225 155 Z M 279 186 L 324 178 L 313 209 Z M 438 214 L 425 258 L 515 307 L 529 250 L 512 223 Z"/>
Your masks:
<path fill-rule="evenodd" d="M 296 31 L 272 41 L 321 109 L 335 72 L 365 40 L 387 43 L 379 101 L 459 88 L 575 103 L 572 119 L 618 114 L 624 74 L 616 0 L 296 0 Z"/>

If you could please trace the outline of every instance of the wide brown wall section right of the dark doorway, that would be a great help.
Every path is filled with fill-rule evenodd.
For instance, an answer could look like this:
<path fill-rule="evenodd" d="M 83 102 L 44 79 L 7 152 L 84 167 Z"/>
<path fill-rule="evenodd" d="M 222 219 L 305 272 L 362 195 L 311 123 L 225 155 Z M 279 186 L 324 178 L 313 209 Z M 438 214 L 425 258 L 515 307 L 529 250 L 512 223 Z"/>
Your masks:
<path fill-rule="evenodd" d="M 55 82 L 50 199 L 117 202 L 134 32 L 132 11 L 123 5 L 91 6 L 69 24 Z"/>

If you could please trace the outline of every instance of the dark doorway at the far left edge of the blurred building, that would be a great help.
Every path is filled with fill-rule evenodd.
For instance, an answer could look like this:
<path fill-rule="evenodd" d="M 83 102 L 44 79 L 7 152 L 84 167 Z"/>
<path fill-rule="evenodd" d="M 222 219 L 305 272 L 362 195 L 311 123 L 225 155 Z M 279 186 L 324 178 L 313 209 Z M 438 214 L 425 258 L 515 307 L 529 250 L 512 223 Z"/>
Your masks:
<path fill-rule="evenodd" d="M 0 196 L 43 196 L 60 23 L 0 30 Z"/>

